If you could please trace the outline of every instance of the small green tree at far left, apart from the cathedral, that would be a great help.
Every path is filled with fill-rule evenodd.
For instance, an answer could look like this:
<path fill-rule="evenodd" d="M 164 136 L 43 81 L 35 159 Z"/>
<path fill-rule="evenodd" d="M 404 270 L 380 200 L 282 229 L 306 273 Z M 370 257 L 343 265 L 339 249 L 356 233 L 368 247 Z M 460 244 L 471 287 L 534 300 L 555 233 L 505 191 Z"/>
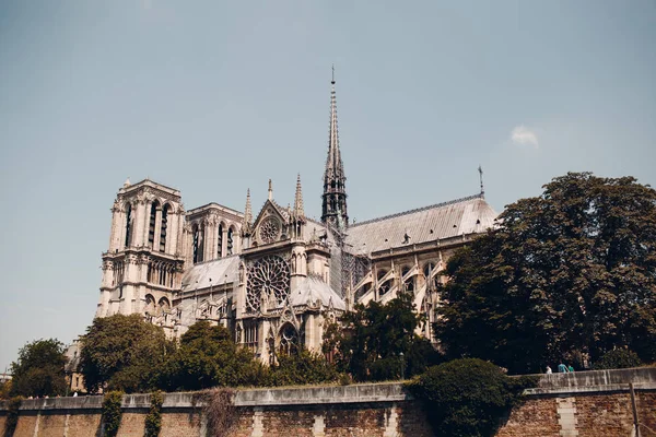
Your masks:
<path fill-rule="evenodd" d="M 57 339 L 35 340 L 19 351 L 19 359 L 11 364 L 13 379 L 11 394 L 45 397 L 65 394 L 65 347 Z"/>

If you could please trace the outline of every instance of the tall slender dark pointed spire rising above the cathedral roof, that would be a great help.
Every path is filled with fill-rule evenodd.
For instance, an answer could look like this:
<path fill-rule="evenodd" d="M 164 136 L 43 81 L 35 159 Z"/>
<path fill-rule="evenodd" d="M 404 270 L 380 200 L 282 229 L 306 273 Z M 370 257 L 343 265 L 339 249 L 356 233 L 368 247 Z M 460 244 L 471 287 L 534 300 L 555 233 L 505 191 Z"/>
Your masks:
<path fill-rule="evenodd" d="M 328 158 L 324 172 L 324 194 L 321 222 L 343 229 L 349 225 L 347 212 L 347 177 L 339 151 L 337 130 L 337 98 L 335 96 L 335 68 L 332 69 L 332 90 L 330 92 L 330 131 L 328 137 Z"/>

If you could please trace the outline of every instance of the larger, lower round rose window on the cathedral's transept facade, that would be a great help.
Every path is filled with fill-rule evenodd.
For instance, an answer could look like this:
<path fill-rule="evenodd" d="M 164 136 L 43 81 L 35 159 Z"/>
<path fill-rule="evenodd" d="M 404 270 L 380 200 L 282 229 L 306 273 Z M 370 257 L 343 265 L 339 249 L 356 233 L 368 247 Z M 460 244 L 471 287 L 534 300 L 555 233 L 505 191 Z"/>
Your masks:
<path fill-rule="evenodd" d="M 262 300 L 281 305 L 290 293 L 290 267 L 277 256 L 261 258 L 248 267 L 246 310 L 257 311 Z"/>

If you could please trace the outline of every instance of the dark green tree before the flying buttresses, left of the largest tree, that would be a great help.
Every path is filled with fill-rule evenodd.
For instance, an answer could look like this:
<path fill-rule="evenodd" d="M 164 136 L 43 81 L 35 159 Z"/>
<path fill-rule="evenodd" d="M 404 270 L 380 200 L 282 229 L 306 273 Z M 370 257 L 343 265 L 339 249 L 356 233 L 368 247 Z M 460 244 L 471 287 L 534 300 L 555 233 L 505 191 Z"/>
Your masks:
<path fill-rule="evenodd" d="M 410 293 L 385 305 L 356 305 L 341 324 L 328 327 L 324 352 L 335 353 L 338 369 L 358 381 L 415 375 L 438 362 L 430 342 L 414 333 L 421 320 Z"/>

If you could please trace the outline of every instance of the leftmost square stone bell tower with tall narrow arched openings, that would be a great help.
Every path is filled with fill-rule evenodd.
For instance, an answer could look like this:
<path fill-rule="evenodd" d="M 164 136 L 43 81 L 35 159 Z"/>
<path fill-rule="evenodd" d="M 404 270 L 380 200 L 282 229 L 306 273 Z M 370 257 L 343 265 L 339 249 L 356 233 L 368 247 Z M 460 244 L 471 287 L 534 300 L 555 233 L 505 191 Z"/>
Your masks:
<path fill-rule="evenodd" d="M 112 212 L 96 317 L 168 312 L 184 267 L 180 192 L 150 179 L 133 185 L 128 179 Z"/>

